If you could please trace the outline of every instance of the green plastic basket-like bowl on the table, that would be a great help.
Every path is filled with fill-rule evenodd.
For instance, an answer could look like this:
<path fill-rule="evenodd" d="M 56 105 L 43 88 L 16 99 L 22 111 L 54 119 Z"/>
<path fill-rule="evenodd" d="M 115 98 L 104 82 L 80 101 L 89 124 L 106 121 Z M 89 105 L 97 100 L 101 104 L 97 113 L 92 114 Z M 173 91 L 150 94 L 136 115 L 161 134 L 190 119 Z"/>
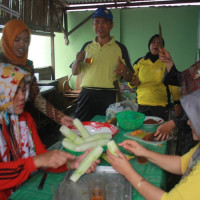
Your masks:
<path fill-rule="evenodd" d="M 145 115 L 143 113 L 127 110 L 117 113 L 116 118 L 120 128 L 125 131 L 134 131 L 142 126 Z"/>

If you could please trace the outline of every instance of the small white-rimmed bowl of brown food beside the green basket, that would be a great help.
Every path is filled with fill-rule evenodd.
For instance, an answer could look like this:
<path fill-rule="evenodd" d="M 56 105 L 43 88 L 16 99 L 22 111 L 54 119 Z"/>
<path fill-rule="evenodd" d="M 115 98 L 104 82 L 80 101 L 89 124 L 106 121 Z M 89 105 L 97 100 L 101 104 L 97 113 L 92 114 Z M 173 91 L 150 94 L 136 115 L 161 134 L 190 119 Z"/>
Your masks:
<path fill-rule="evenodd" d="M 156 123 L 145 124 L 145 121 L 150 120 L 150 119 L 156 121 Z M 164 120 L 160 117 L 146 116 L 145 119 L 144 119 L 144 122 L 143 122 L 143 128 L 145 130 L 155 132 L 157 130 L 158 126 L 160 124 L 162 124 L 163 122 L 164 122 Z"/>

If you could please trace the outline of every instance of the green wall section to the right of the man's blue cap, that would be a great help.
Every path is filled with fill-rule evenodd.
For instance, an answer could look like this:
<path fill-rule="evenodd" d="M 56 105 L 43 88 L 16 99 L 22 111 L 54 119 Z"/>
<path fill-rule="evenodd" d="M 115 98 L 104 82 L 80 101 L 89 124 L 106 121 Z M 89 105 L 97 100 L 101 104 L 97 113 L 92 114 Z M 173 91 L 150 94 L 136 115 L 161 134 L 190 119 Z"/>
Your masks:
<path fill-rule="evenodd" d="M 150 37 L 162 26 L 165 48 L 171 53 L 179 70 L 195 62 L 198 11 L 200 7 L 140 8 L 122 10 L 122 42 L 132 62 L 148 51 Z M 128 23 L 126 23 L 128 22 Z"/>

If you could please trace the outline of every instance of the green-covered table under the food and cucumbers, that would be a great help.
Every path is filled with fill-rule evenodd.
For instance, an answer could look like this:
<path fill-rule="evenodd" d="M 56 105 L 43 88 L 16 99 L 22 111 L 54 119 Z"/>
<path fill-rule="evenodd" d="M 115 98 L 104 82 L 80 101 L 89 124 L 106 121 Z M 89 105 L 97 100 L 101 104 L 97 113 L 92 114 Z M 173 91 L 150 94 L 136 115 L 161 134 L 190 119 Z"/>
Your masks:
<path fill-rule="evenodd" d="M 93 121 L 105 122 L 105 116 L 95 116 Z M 114 140 L 116 143 L 120 143 L 124 139 L 128 139 L 124 136 L 126 131 L 123 131 L 119 128 L 119 132 L 114 136 Z M 167 153 L 167 142 L 164 142 L 162 145 L 149 145 L 143 144 L 146 148 L 151 149 L 155 152 Z M 51 149 L 60 149 L 62 147 L 61 142 L 57 142 L 54 144 Z M 120 147 L 121 149 L 121 147 Z M 122 149 L 121 149 L 122 150 Z M 124 150 L 122 150 L 124 153 Z M 147 179 L 152 184 L 165 189 L 166 186 L 166 174 L 165 172 L 152 164 L 151 162 L 147 162 L 146 164 L 139 164 L 137 158 L 130 160 L 131 165 L 134 169 L 141 174 L 145 179 Z M 106 161 L 102 160 L 101 165 L 109 165 Z M 19 188 L 13 195 L 10 196 L 10 200 L 50 200 L 53 198 L 53 194 L 55 194 L 56 189 L 59 184 L 62 182 L 63 178 L 66 175 L 64 173 L 51 173 L 48 172 L 48 176 L 46 182 L 44 184 L 44 188 L 42 190 L 38 190 L 38 185 L 41 181 L 43 172 L 39 171 L 34 174 L 29 180 L 27 180 L 21 188 Z M 132 199 L 134 200 L 143 200 L 144 198 L 133 188 L 132 189 Z"/>

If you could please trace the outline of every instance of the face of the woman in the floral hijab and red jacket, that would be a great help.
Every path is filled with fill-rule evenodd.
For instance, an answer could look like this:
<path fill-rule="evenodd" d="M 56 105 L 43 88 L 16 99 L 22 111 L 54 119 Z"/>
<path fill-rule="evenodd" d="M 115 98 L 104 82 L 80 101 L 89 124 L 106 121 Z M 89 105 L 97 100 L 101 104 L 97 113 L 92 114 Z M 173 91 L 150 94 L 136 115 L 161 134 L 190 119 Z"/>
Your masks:
<path fill-rule="evenodd" d="M 26 100 L 26 85 L 24 79 L 22 79 L 18 85 L 17 91 L 13 98 L 14 113 L 19 115 L 24 111 Z"/>

